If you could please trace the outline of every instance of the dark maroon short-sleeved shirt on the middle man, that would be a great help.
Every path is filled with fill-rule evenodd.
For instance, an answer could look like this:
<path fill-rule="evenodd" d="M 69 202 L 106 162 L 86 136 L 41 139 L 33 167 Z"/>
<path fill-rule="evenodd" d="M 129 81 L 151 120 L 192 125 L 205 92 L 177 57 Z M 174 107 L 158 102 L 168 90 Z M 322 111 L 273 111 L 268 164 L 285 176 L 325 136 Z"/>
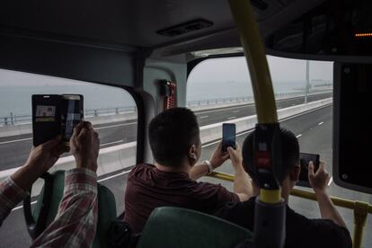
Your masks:
<path fill-rule="evenodd" d="M 166 173 L 152 164 L 138 164 L 128 176 L 124 220 L 137 234 L 154 208 L 190 208 L 212 214 L 226 201 L 239 201 L 239 197 L 220 184 L 191 180 L 187 173 Z"/>

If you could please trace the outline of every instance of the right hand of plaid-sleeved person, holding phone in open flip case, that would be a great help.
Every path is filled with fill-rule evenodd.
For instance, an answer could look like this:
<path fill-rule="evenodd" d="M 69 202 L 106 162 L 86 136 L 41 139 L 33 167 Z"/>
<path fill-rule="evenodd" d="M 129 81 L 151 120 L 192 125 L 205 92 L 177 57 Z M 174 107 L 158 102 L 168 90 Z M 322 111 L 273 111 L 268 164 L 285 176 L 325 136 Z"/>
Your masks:
<path fill-rule="evenodd" d="M 74 128 L 70 139 L 71 153 L 75 157 L 76 168 L 87 168 L 97 171 L 97 158 L 100 150 L 98 133 L 88 121 L 79 123 Z"/>

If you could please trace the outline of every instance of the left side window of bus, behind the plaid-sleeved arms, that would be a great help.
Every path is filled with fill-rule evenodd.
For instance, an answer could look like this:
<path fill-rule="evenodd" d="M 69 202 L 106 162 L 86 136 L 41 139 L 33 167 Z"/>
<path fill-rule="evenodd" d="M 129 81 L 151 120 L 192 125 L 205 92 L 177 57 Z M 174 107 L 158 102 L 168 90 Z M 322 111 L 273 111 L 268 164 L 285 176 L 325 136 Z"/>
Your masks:
<path fill-rule="evenodd" d="M 62 93 L 84 95 L 84 119 L 93 123 L 101 141 L 98 180 L 114 193 L 120 215 L 128 172 L 136 164 L 137 106 L 131 94 L 118 87 L 0 69 L 0 180 L 22 166 L 30 153 L 31 95 Z M 74 165 L 72 155 L 64 154 L 50 171 Z M 34 183 L 32 196 L 40 193 L 41 186 L 41 181 Z M 20 206 L 4 221 L 2 243 L 3 232 L 10 233 L 2 245 L 31 244 L 22 215 Z"/>

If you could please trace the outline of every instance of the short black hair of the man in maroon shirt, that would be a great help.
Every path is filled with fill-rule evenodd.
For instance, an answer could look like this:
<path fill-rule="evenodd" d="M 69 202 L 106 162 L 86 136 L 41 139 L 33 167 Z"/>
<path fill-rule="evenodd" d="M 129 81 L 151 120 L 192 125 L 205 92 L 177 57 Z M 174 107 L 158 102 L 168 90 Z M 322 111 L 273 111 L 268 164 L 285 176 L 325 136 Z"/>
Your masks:
<path fill-rule="evenodd" d="M 155 161 L 164 166 L 181 164 L 189 147 L 199 142 L 197 117 L 186 108 L 161 112 L 151 120 L 148 133 Z"/>

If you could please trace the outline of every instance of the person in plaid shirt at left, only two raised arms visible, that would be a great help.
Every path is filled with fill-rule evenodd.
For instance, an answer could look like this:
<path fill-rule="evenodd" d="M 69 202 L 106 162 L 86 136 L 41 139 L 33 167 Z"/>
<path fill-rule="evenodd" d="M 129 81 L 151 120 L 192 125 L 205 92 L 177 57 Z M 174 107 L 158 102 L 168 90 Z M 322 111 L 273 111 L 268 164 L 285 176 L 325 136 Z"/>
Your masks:
<path fill-rule="evenodd" d="M 62 154 L 61 137 L 31 150 L 26 164 L 0 186 L 0 217 L 4 218 L 23 198 L 41 173 L 47 172 Z M 97 225 L 98 134 L 89 122 L 76 126 L 70 140 L 76 168 L 65 173 L 64 196 L 58 215 L 31 247 L 90 247 Z"/>

